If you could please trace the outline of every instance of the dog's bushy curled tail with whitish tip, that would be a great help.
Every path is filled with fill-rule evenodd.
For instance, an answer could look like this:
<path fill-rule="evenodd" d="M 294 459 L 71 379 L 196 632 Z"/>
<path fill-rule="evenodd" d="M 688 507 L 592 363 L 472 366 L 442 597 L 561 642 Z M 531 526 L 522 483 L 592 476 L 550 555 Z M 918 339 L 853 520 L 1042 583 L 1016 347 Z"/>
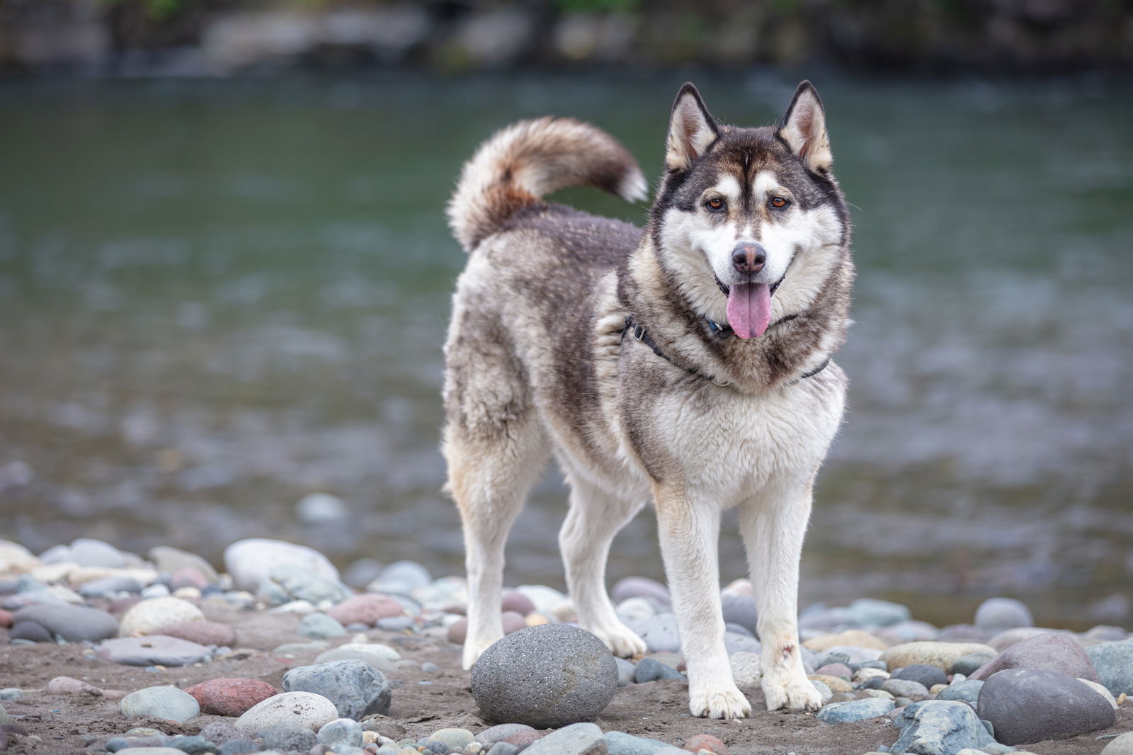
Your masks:
<path fill-rule="evenodd" d="M 641 169 L 614 137 L 570 118 L 539 118 L 480 145 L 449 201 L 449 224 L 471 252 L 516 212 L 566 186 L 594 186 L 630 202 L 647 196 Z"/>

